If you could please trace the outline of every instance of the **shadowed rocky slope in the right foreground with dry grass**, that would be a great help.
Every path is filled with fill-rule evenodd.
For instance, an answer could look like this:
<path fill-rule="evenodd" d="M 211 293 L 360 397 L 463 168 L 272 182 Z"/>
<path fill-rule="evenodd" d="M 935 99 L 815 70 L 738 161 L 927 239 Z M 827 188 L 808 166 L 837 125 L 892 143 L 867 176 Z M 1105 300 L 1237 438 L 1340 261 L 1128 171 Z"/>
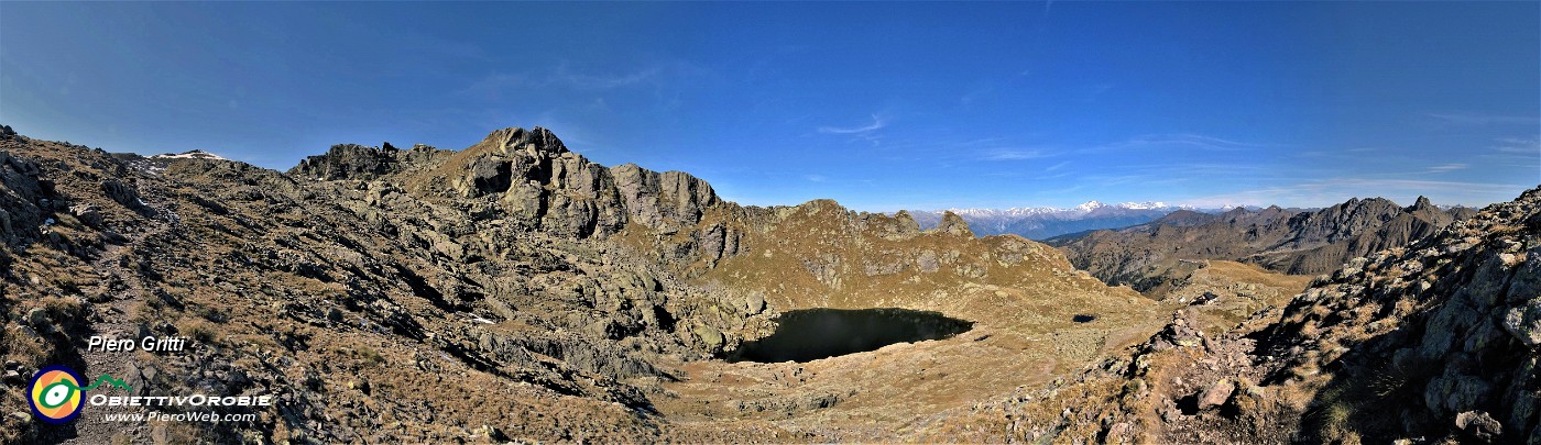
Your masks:
<path fill-rule="evenodd" d="M 1231 331 L 1193 311 L 1123 356 L 937 422 L 949 439 L 1541 443 L 1541 188 L 1350 260 Z"/>

